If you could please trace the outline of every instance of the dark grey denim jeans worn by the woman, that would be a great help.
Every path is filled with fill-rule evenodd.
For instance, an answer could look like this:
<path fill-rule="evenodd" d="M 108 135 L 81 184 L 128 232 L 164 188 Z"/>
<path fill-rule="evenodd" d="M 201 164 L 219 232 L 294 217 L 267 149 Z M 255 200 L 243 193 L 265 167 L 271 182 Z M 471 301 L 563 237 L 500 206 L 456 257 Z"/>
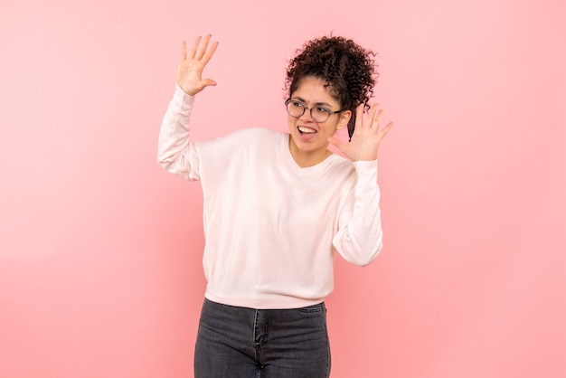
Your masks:
<path fill-rule="evenodd" d="M 328 378 L 324 302 L 293 309 L 232 307 L 204 299 L 195 378 Z"/>

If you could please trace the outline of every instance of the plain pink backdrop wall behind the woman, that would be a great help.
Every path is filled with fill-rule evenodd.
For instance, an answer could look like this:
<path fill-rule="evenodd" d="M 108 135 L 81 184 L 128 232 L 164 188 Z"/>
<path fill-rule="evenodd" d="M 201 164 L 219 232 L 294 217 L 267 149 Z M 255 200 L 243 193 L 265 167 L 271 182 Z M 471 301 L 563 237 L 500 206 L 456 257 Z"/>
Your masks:
<path fill-rule="evenodd" d="M 565 3 L 194 3 L 0 3 L 0 377 L 192 376 L 202 194 L 156 164 L 180 42 L 221 42 L 204 139 L 285 130 L 287 60 L 329 32 L 379 52 L 396 122 L 333 377 L 566 376 Z"/>

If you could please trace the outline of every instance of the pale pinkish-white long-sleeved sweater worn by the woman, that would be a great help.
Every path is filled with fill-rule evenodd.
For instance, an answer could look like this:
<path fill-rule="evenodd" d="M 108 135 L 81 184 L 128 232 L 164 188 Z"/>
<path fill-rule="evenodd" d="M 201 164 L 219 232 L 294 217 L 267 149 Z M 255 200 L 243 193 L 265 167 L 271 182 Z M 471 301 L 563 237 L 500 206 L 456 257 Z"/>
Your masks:
<path fill-rule="evenodd" d="M 377 257 L 376 161 L 331 155 L 301 168 L 289 134 L 266 128 L 195 142 L 193 101 L 176 87 L 157 160 L 203 187 L 206 298 L 238 307 L 306 307 L 333 290 L 336 251 L 360 266 Z"/>

